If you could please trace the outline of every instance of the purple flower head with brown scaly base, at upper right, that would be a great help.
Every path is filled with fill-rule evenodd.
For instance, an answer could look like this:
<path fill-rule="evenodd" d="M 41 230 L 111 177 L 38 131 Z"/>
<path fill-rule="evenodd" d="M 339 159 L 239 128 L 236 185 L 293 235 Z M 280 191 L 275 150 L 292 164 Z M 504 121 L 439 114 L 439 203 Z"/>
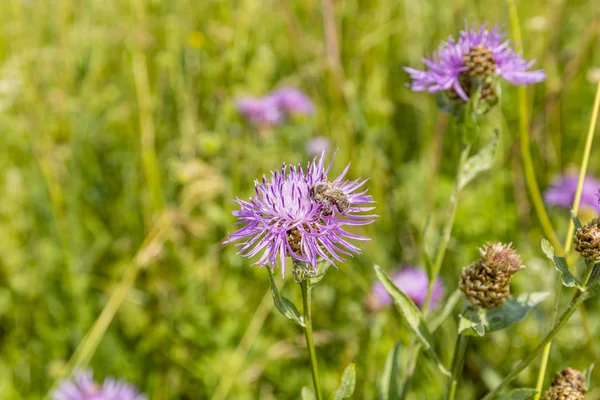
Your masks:
<path fill-rule="evenodd" d="M 500 76 L 513 85 L 528 85 L 546 78 L 542 70 L 528 71 L 535 61 L 526 61 L 512 47 L 498 27 L 487 30 L 465 27 L 458 40 L 452 36 L 437 52 L 423 59 L 425 71 L 405 68 L 412 79 L 411 89 L 431 93 L 446 91 L 453 100 L 469 100 L 476 81 L 482 82 L 482 99 L 496 96 L 494 85 L 486 78 Z"/>

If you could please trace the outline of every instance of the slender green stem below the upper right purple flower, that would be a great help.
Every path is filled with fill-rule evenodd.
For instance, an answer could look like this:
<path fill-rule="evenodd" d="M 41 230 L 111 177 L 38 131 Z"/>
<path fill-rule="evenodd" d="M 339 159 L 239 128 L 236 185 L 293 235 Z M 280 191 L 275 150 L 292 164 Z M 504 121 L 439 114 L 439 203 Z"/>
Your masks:
<path fill-rule="evenodd" d="M 458 208 L 458 198 L 461 192 L 460 185 L 460 177 L 462 175 L 465 163 L 469 158 L 469 151 L 471 150 L 471 145 L 462 143 L 461 151 L 458 160 L 458 168 L 456 170 L 456 178 L 454 181 L 454 189 L 452 190 L 452 196 L 450 196 L 450 218 L 446 221 L 446 225 L 444 226 L 444 230 L 442 233 L 441 242 L 438 247 L 438 251 L 436 253 L 435 262 L 433 264 L 433 270 L 431 272 L 431 277 L 429 279 L 429 285 L 427 286 L 427 295 L 425 297 L 425 302 L 423 303 L 423 314 L 427 315 L 429 311 L 429 305 L 431 303 L 431 296 L 433 294 L 433 287 L 435 285 L 435 281 L 440 273 L 440 269 L 442 268 L 442 263 L 444 261 L 444 256 L 446 255 L 446 250 L 448 249 L 448 243 L 450 242 L 450 237 L 452 235 L 452 227 L 454 226 L 454 218 L 456 217 L 456 209 Z M 411 345 L 409 349 L 409 359 L 406 366 L 406 373 L 404 374 L 404 379 L 402 380 L 402 391 L 400 394 L 400 398 L 404 399 L 408 395 L 408 390 L 410 388 L 410 381 L 412 379 L 413 374 L 415 373 L 415 368 L 417 366 L 417 360 L 419 359 L 419 354 L 421 352 L 421 345 L 417 342 L 415 338 L 411 340 Z"/>

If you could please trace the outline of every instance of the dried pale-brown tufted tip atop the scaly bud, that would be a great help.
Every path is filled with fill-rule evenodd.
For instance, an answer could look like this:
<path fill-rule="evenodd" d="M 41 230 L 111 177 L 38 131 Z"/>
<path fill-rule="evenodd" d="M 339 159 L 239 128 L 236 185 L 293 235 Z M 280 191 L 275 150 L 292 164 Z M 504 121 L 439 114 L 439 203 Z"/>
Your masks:
<path fill-rule="evenodd" d="M 479 249 L 479 253 L 483 268 L 496 279 L 509 280 L 515 272 L 523 268 L 521 256 L 510 243 L 487 243 Z"/>

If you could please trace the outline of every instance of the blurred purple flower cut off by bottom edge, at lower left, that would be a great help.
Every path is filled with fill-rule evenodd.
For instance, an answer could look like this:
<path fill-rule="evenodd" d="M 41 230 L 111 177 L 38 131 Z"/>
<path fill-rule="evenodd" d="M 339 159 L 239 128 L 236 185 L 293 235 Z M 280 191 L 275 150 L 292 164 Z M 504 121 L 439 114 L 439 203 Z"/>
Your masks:
<path fill-rule="evenodd" d="M 61 382 L 52 392 L 53 400 L 146 400 L 132 385 L 111 378 L 100 386 L 92 377 L 91 371 L 77 371 L 72 380 Z"/>

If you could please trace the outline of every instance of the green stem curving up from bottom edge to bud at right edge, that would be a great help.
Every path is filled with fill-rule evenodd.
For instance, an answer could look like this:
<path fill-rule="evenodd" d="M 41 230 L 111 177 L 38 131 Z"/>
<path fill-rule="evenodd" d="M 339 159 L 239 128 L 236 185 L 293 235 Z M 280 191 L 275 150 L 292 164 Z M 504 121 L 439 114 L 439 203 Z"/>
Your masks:
<path fill-rule="evenodd" d="M 593 268 L 591 266 L 588 266 L 587 269 L 586 269 L 585 276 L 583 278 L 583 283 L 582 283 L 583 287 L 587 286 L 587 283 L 588 283 L 588 281 L 590 279 L 592 271 L 593 271 Z M 535 358 L 546 348 L 546 346 L 548 345 L 548 343 L 550 343 L 550 341 L 552 341 L 552 339 L 554 338 L 554 336 L 556 336 L 558 334 L 558 332 L 562 329 L 562 327 L 567 323 L 567 321 L 569 320 L 569 318 L 571 318 L 571 315 L 573 315 L 573 313 L 575 311 L 577 311 L 577 309 L 579 308 L 579 306 L 581 304 L 583 304 L 583 302 L 587 298 L 586 295 L 587 295 L 587 290 L 586 289 L 579 289 L 575 293 L 575 295 L 573 295 L 573 298 L 571 299 L 571 302 L 569 303 L 569 305 L 567 306 L 566 310 L 562 313 L 562 315 L 558 319 L 558 322 L 554 325 L 554 327 L 552 328 L 552 330 L 550 332 L 548 332 L 548 334 L 546 334 L 546 337 L 544 337 L 544 339 L 542 339 L 541 343 L 535 348 L 535 350 L 533 350 L 531 353 L 529 353 L 529 355 L 523 361 L 521 361 L 519 363 L 519 365 L 517 365 L 516 368 L 514 368 L 510 372 L 510 374 L 508 374 L 506 376 L 506 378 L 504 378 L 504 380 L 494 390 L 492 390 L 487 395 L 485 395 L 481 400 L 491 400 L 491 399 L 493 399 L 496 395 L 498 395 L 498 393 L 500 392 L 500 390 L 502 390 L 513 379 L 515 379 L 517 377 L 517 375 L 521 371 L 523 371 L 525 368 L 527 368 L 527 366 L 529 364 L 531 364 L 531 362 L 533 360 L 535 360 Z"/>

